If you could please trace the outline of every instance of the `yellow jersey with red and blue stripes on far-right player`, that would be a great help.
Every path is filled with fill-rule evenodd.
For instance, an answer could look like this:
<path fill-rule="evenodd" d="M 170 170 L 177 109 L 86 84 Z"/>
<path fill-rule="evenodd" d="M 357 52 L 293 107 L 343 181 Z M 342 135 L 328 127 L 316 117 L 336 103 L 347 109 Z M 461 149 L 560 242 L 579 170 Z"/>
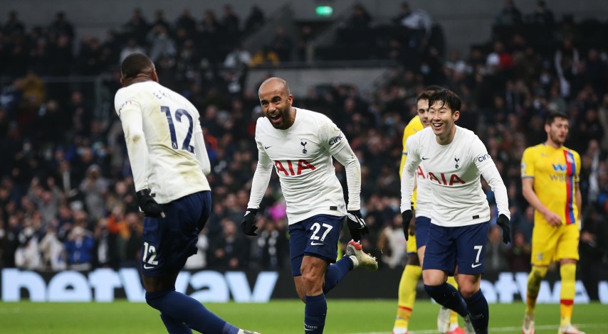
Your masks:
<path fill-rule="evenodd" d="M 576 183 L 580 181 L 580 156 L 562 146 L 545 144 L 528 147 L 521 159 L 521 178 L 534 178 L 534 192 L 540 202 L 562 217 L 565 225 L 575 224 L 580 208 L 575 201 Z M 538 211 L 534 222 L 548 222 Z"/>

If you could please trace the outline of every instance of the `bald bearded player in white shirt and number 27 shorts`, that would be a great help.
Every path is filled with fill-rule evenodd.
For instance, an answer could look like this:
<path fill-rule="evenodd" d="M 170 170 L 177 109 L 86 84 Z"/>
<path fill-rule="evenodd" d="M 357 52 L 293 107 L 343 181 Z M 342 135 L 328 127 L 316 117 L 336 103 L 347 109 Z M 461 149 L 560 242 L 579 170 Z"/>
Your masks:
<path fill-rule="evenodd" d="M 298 296 L 306 304 L 304 331 L 323 333 L 325 293 L 352 269 L 378 268 L 357 242 L 368 233 L 360 212 L 361 167 L 344 134 L 329 118 L 292 107 L 293 96 L 285 80 L 269 78 L 258 95 L 265 117 L 256 124 L 258 166 L 241 226 L 246 235 L 256 235 L 255 216 L 274 166 L 287 203 L 291 273 Z M 348 205 L 332 156 L 345 166 Z M 353 241 L 345 257 L 336 262 L 345 216 Z"/>

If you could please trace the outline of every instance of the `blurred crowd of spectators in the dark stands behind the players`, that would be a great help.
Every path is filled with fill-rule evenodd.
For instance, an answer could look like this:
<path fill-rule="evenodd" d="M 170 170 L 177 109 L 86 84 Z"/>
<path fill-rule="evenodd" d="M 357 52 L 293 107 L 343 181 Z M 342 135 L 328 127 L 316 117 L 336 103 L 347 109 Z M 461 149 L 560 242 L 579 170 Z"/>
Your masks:
<path fill-rule="evenodd" d="M 154 60 L 162 85 L 199 109 L 211 159 L 213 213 L 187 268 L 288 268 L 276 176 L 258 215 L 260 235 L 245 237 L 239 226 L 257 160 L 255 122 L 262 116 L 258 85 L 248 87 L 246 77 L 251 68 L 272 75 L 283 64 L 304 61 L 307 42 L 319 31 L 302 25 L 291 38 L 278 27 L 271 43 L 246 50 L 241 41 L 263 27 L 266 15 L 252 6 L 240 18 L 226 5 L 222 13 L 197 18 L 184 10 L 169 21 L 162 9 L 154 18 L 135 9 L 103 41 L 76 41 L 63 12 L 51 14 L 48 26 L 22 22 L 15 11 L 0 21 L 0 267 L 58 271 L 139 263 L 142 215 L 113 96 L 120 60 L 142 52 Z M 520 158 L 526 147 L 545 141 L 547 112 L 569 115 L 566 144 L 582 157 L 578 277 L 597 298 L 594 282 L 608 277 L 608 22 L 557 18 L 544 1 L 522 13 L 506 1 L 497 8 L 491 40 L 471 45 L 465 55 L 446 50 L 441 22 L 423 9 L 404 3 L 390 23 L 374 20 L 355 5 L 335 43 L 316 51 L 327 60 L 391 61 L 385 80 L 368 94 L 328 84 L 294 99 L 295 107 L 327 114 L 360 159 L 362 212 L 371 231 L 365 249 L 383 267 L 404 266 L 403 129 L 416 114 L 416 95 L 426 85 L 442 85 L 463 100 L 458 124 L 480 136 L 508 187 L 513 243 L 503 244 L 500 228 L 491 228 L 488 272 L 530 269 L 533 208 L 521 195 Z M 98 79 L 93 87 L 60 80 L 65 76 Z M 98 112 L 94 101 L 101 102 Z M 344 168 L 335 168 L 346 189 Z M 484 189 L 495 219 L 493 193 Z M 342 241 L 348 238 L 345 229 Z"/>

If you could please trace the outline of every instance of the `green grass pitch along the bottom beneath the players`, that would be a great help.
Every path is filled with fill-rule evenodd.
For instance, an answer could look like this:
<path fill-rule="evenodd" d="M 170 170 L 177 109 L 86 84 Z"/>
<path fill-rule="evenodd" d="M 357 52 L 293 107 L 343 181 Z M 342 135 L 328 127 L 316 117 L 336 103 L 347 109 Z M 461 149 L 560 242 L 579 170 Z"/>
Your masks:
<path fill-rule="evenodd" d="M 262 334 L 303 333 L 304 304 L 208 303 L 206 307 L 236 326 Z M 391 333 L 396 300 L 332 300 L 327 302 L 327 334 Z M 490 333 L 521 333 L 523 303 L 490 306 Z M 410 330 L 436 333 L 439 306 L 416 301 Z M 557 333 L 559 305 L 539 305 L 536 333 Z M 608 306 L 575 305 L 574 323 L 587 334 L 608 333 Z M 462 320 L 461 320 L 462 324 Z M 157 311 L 145 303 L 0 303 L 0 333 L 167 333 Z"/>

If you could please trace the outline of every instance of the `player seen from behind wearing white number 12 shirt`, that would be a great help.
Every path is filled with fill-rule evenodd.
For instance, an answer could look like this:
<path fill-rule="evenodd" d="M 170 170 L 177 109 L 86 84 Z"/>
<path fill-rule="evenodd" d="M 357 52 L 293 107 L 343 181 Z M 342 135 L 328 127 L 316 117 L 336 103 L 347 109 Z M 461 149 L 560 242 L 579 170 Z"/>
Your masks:
<path fill-rule="evenodd" d="M 175 291 L 177 274 L 196 254 L 211 211 L 211 171 L 199 112 L 182 95 L 159 85 L 154 63 L 135 53 L 122 61 L 114 99 L 145 215 L 141 270 L 147 303 L 169 333 L 256 334 L 218 318 Z"/>

